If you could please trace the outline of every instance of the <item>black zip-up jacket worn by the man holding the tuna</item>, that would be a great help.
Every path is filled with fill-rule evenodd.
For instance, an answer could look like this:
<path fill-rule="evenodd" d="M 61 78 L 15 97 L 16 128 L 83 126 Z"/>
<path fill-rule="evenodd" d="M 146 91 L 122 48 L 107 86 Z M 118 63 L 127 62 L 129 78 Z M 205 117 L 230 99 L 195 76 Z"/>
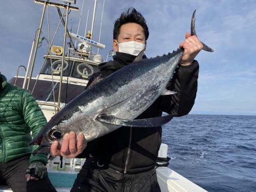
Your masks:
<path fill-rule="evenodd" d="M 100 66 L 101 72 L 93 74 L 87 87 L 130 64 L 135 56 L 117 52 L 113 59 Z M 174 116 L 187 115 L 195 103 L 198 73 L 197 61 L 189 66 L 179 66 L 167 87 L 168 90 L 177 93 L 160 96 L 137 119 L 162 116 L 162 112 Z M 90 141 L 85 151 L 78 157 L 90 155 L 101 164 L 110 166 L 118 172 L 139 173 L 154 168 L 161 142 L 162 127 L 121 127 Z"/>

